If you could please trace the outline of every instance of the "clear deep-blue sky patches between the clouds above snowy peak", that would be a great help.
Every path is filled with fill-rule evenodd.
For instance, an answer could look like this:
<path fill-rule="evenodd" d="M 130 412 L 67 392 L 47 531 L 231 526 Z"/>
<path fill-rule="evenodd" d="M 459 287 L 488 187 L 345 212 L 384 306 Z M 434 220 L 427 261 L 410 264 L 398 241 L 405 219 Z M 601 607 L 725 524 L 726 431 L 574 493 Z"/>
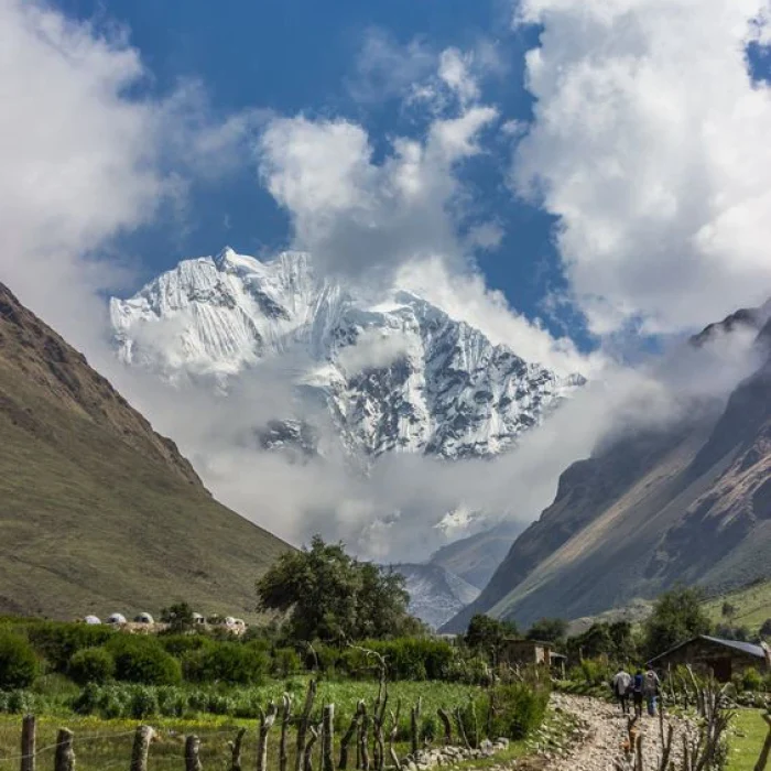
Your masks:
<path fill-rule="evenodd" d="M 524 52 L 535 30 L 512 31 L 507 3 L 468 0 L 61 0 L 69 17 L 106 28 L 124 25 L 152 74 L 143 87 L 158 95 L 183 79 L 202 80 L 216 113 L 264 108 L 282 115 L 344 117 L 362 124 L 378 150 L 388 138 L 420 134 L 423 127 L 405 118 L 395 94 L 362 100 L 356 90 L 357 62 L 371 35 L 394 45 L 417 40 L 438 53 L 480 41 L 496 46 L 502 65 L 482 82 L 482 98 L 496 104 L 504 119 L 529 120 L 532 98 L 523 86 Z M 464 174 L 477 204 L 504 231 L 500 247 L 479 256 L 489 285 L 502 290 L 529 317 L 543 316 L 564 334 L 541 301 L 563 281 L 552 242 L 554 219 L 518 200 L 506 188 L 509 149 L 492 145 Z M 289 221 L 257 182 L 254 165 L 243 160 L 240 172 L 216 185 L 198 185 L 191 194 L 184 224 L 171 217 L 123 239 L 122 248 L 140 253 L 145 275 L 167 269 L 183 257 L 217 251 L 225 243 L 250 253 L 286 245 Z M 572 336 L 590 345 L 576 316 Z"/>

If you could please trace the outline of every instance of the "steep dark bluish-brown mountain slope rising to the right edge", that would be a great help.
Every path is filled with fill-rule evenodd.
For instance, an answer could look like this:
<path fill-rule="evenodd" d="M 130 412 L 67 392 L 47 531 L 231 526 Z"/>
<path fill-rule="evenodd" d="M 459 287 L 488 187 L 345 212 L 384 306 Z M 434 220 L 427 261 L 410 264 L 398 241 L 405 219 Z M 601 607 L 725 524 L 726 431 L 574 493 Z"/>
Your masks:
<path fill-rule="evenodd" d="M 474 612 L 521 623 L 577 618 L 676 582 L 732 586 L 771 574 L 771 323 L 741 312 L 720 329 L 765 326 L 763 363 L 727 405 L 705 400 L 663 430 L 625 435 L 561 477 L 554 503 L 513 544 Z M 718 329 L 694 338 L 707 345 Z"/>

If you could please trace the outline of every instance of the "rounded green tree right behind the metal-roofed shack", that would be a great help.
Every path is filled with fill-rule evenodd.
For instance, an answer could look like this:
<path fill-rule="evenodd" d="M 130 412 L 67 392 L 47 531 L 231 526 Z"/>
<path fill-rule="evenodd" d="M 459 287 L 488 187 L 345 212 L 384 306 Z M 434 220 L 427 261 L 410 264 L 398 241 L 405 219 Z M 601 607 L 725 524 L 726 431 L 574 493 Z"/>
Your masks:
<path fill-rule="evenodd" d="M 712 622 L 701 602 L 702 593 L 695 588 L 681 587 L 661 595 L 645 621 L 647 654 L 652 658 L 697 634 L 708 634 Z"/>

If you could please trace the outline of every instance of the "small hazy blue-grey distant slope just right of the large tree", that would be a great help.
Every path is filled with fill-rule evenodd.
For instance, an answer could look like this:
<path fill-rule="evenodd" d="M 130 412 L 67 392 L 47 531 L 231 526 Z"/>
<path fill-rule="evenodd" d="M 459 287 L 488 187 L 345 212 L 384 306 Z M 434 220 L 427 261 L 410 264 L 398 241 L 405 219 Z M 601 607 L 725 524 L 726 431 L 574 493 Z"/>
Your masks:
<path fill-rule="evenodd" d="M 479 589 L 439 565 L 393 565 L 406 578 L 410 612 L 437 629 L 461 608 L 473 602 Z"/>

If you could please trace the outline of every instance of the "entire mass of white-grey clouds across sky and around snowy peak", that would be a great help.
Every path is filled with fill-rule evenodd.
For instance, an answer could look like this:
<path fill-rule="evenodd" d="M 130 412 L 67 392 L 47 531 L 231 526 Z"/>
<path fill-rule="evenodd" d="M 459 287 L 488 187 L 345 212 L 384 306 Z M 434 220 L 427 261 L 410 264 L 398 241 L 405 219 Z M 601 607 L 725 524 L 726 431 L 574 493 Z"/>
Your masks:
<path fill-rule="evenodd" d="M 526 62 L 531 124 L 486 97 L 486 74 L 504 66 L 495 46 L 412 43 L 402 56 L 373 36 L 350 87 L 365 106 L 372 84 L 400 95 L 417 127 L 381 137 L 329 111 L 215 113 L 200 84 L 148 87 L 153 74 L 128 31 L 108 34 L 39 2 L 1 3 L 0 278 L 177 439 L 224 502 L 281 534 L 318 530 L 411 560 L 438 545 L 420 537 L 459 499 L 532 519 L 557 475 L 616 421 L 665 420 L 681 406 L 673 394 L 727 392 L 724 381 L 746 371 L 742 360 L 718 362 L 723 379 L 705 386 L 703 372 L 694 381 L 667 363 L 662 378 L 616 365 L 608 346 L 629 326 L 682 333 L 768 296 L 771 101 L 746 59 L 748 43 L 768 42 L 757 0 L 518 9 L 518 24 L 543 28 Z M 558 219 L 566 301 L 599 336 L 593 352 L 517 313 L 479 268 L 480 254 L 519 256 L 495 251 L 501 226 L 467 170 L 511 142 L 511 187 Z M 243 434 L 245 411 L 269 419 L 286 408 L 286 384 L 306 362 L 264 366 L 227 399 L 208 384 L 175 390 L 127 371 L 108 345 L 105 296 L 131 294 L 146 265 L 118 237 L 162 217 L 183 227 L 191 185 L 243 163 L 287 216 L 287 246 L 313 251 L 323 272 L 373 292 L 420 290 L 492 344 L 596 382 L 495 463 L 395 456 L 360 477 L 345 458 L 290 461 Z M 401 352 L 393 341 L 360 343 L 350 369 Z M 408 511 L 427 513 L 408 521 Z"/>

